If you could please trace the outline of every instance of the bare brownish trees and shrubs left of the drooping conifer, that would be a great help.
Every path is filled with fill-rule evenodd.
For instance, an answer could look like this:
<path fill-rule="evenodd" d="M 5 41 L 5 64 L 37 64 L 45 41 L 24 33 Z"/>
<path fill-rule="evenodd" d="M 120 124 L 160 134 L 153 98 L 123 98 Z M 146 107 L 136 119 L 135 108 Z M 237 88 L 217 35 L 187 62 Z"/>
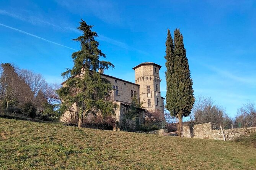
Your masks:
<path fill-rule="evenodd" d="M 60 100 L 55 93 L 58 88 L 59 85 L 47 83 L 41 74 L 10 63 L 0 66 L 0 106 L 4 112 L 58 119 Z"/>

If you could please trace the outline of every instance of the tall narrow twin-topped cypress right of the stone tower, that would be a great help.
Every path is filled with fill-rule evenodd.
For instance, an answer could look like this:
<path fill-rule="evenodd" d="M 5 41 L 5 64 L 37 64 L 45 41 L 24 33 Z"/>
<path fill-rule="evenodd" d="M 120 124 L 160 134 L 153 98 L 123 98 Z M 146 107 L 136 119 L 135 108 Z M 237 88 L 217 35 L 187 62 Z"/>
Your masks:
<path fill-rule="evenodd" d="M 167 67 L 166 109 L 170 111 L 172 116 L 178 118 L 179 136 L 183 136 L 182 119 L 191 113 L 195 98 L 186 49 L 183 44 L 183 35 L 179 29 L 174 31 L 174 47 L 170 31 L 168 31 L 165 58 Z"/>

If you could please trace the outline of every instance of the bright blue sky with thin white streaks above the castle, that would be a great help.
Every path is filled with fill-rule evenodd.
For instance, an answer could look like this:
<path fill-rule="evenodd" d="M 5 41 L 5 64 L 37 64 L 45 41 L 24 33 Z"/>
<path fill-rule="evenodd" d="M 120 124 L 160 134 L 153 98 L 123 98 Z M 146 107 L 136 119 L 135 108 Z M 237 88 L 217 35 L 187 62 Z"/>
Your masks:
<path fill-rule="evenodd" d="M 256 103 L 256 2 L 227 1 L 0 1 L 0 62 L 62 82 L 79 49 L 80 19 L 94 25 L 100 49 L 116 68 L 106 74 L 134 82 L 132 67 L 160 64 L 165 97 L 167 28 L 180 28 L 195 96 L 210 96 L 235 116 Z"/>

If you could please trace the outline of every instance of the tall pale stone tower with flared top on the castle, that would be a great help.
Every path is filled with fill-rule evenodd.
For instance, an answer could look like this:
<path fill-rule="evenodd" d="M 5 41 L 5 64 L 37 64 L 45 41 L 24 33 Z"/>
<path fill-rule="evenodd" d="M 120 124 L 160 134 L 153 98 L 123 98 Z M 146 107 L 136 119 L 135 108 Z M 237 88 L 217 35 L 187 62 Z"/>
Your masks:
<path fill-rule="evenodd" d="M 140 101 L 148 111 L 164 112 L 164 103 L 161 97 L 159 70 L 161 66 L 152 62 L 141 63 L 133 67 L 135 83 L 140 85 Z"/>

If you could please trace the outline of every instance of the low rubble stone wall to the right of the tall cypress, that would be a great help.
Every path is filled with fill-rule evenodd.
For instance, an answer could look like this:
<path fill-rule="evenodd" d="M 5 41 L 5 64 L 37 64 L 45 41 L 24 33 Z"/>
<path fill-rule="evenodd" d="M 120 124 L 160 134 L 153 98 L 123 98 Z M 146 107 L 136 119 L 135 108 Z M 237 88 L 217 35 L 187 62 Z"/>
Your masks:
<path fill-rule="evenodd" d="M 226 140 L 233 140 L 236 137 L 256 132 L 256 127 L 250 128 L 233 128 L 223 130 Z M 201 138 L 223 140 L 221 130 L 215 123 L 204 123 L 199 125 L 183 126 L 183 135 L 186 138 Z"/>

